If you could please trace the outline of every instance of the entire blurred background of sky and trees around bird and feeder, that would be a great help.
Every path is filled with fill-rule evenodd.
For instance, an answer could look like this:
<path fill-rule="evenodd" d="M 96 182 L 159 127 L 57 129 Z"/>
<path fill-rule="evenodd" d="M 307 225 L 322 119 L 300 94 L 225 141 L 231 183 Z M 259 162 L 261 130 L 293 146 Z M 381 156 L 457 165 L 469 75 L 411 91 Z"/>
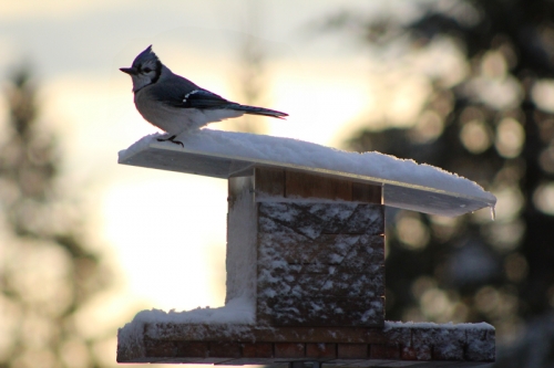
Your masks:
<path fill-rule="evenodd" d="M 387 210 L 387 318 L 489 322 L 496 367 L 554 365 L 550 0 L 0 0 L 0 367 L 114 367 L 144 308 L 225 298 L 224 180 L 119 166 L 147 45 L 175 73 L 290 114 L 209 128 L 379 150 L 499 199 Z"/>

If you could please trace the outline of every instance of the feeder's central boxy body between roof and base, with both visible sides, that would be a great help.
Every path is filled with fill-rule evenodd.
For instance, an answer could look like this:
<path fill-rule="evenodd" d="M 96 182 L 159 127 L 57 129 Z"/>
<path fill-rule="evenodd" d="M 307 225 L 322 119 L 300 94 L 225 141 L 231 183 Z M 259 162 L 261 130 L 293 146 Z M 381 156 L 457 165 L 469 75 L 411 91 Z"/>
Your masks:
<path fill-rule="evenodd" d="M 256 168 L 229 179 L 227 298 L 256 324 L 375 326 L 384 320 L 380 186 Z"/>

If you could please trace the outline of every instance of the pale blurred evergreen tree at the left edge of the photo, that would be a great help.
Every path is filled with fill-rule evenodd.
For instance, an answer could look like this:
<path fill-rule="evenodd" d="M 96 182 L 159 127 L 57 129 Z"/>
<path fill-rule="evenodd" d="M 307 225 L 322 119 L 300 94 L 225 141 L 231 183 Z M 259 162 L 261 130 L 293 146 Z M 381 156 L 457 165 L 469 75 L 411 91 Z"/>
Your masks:
<path fill-rule="evenodd" d="M 12 74 L 0 139 L 0 367 L 100 367 L 83 308 L 110 272 L 85 239 L 82 211 L 57 181 L 61 156 L 39 124 L 29 69 Z M 91 322 L 95 323 L 95 322 Z"/>

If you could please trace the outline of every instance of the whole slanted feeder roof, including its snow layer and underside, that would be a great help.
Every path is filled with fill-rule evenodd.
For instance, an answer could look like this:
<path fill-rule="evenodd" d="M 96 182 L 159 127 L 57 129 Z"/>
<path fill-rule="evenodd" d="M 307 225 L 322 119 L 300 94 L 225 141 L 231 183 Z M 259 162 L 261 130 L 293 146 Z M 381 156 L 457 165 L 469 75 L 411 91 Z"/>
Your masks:
<path fill-rule="evenodd" d="M 440 168 L 380 153 L 349 153 L 290 138 L 202 129 L 184 145 L 143 137 L 119 154 L 124 165 L 229 178 L 265 166 L 383 186 L 386 206 L 454 217 L 496 198 L 478 183 Z"/>

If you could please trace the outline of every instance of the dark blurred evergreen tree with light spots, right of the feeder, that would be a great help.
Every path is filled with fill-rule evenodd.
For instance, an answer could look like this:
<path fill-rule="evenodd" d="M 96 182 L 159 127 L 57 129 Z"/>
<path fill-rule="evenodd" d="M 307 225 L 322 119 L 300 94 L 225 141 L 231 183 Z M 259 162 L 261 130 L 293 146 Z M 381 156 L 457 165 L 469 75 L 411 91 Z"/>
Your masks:
<path fill-rule="evenodd" d="M 412 125 L 368 124 L 349 148 L 456 172 L 499 203 L 494 222 L 481 212 L 448 219 L 388 211 L 387 318 L 485 320 L 509 341 L 554 307 L 554 2 L 396 6 L 325 23 L 408 61 L 430 86 Z M 414 61 L 422 54 L 434 57 L 422 65 Z M 447 54 L 458 66 L 444 71 Z"/>

